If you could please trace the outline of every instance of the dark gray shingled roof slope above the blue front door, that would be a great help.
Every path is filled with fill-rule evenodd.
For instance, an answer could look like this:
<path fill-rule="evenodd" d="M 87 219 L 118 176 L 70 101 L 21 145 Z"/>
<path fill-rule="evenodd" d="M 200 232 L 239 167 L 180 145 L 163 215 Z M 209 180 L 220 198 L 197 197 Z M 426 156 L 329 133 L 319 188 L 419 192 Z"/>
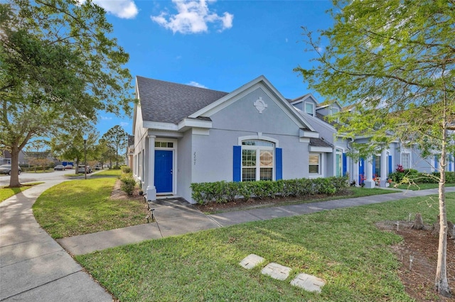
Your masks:
<path fill-rule="evenodd" d="M 137 77 L 142 120 L 178 123 L 228 94 L 223 91 Z"/>

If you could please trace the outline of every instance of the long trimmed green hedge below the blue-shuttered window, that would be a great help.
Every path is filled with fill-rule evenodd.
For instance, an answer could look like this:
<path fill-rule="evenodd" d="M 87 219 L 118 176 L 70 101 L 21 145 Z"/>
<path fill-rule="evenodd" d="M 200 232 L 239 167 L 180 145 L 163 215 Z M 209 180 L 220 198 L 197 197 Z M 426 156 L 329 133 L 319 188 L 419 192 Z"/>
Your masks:
<path fill-rule="evenodd" d="M 216 181 L 191 184 L 191 197 L 199 204 L 224 203 L 242 198 L 301 198 L 312 195 L 334 195 L 348 188 L 347 177 L 287 179 L 278 181 Z"/>

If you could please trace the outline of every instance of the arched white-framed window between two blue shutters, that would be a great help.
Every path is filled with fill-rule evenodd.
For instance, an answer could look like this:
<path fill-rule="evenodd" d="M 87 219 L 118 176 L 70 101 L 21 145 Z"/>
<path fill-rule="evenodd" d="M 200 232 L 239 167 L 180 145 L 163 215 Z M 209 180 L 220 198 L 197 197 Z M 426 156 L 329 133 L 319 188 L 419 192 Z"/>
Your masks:
<path fill-rule="evenodd" d="M 273 180 L 274 143 L 242 141 L 242 181 Z"/>

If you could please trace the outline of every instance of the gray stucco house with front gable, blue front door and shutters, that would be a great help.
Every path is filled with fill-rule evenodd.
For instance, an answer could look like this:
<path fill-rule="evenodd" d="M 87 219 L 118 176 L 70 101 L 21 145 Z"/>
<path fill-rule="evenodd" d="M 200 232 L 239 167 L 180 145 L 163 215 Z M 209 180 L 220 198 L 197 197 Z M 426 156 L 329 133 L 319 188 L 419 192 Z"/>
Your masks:
<path fill-rule="evenodd" d="M 333 127 L 310 121 L 263 76 L 230 93 L 137 77 L 136 95 L 133 172 L 149 200 L 192 201 L 193 182 L 336 174 Z"/>

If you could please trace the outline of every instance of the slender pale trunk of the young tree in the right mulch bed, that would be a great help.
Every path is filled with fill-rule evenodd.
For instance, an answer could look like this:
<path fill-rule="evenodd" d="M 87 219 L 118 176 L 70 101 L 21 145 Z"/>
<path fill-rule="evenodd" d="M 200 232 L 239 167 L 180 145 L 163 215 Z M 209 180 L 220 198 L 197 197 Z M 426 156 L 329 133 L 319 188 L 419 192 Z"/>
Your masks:
<path fill-rule="evenodd" d="M 445 120 L 445 119 L 444 119 Z M 447 215 L 446 215 L 446 124 L 443 123 L 441 159 L 439 160 L 439 246 L 436 280 L 434 286 L 437 293 L 445 297 L 451 297 L 449 281 L 447 281 Z"/>

